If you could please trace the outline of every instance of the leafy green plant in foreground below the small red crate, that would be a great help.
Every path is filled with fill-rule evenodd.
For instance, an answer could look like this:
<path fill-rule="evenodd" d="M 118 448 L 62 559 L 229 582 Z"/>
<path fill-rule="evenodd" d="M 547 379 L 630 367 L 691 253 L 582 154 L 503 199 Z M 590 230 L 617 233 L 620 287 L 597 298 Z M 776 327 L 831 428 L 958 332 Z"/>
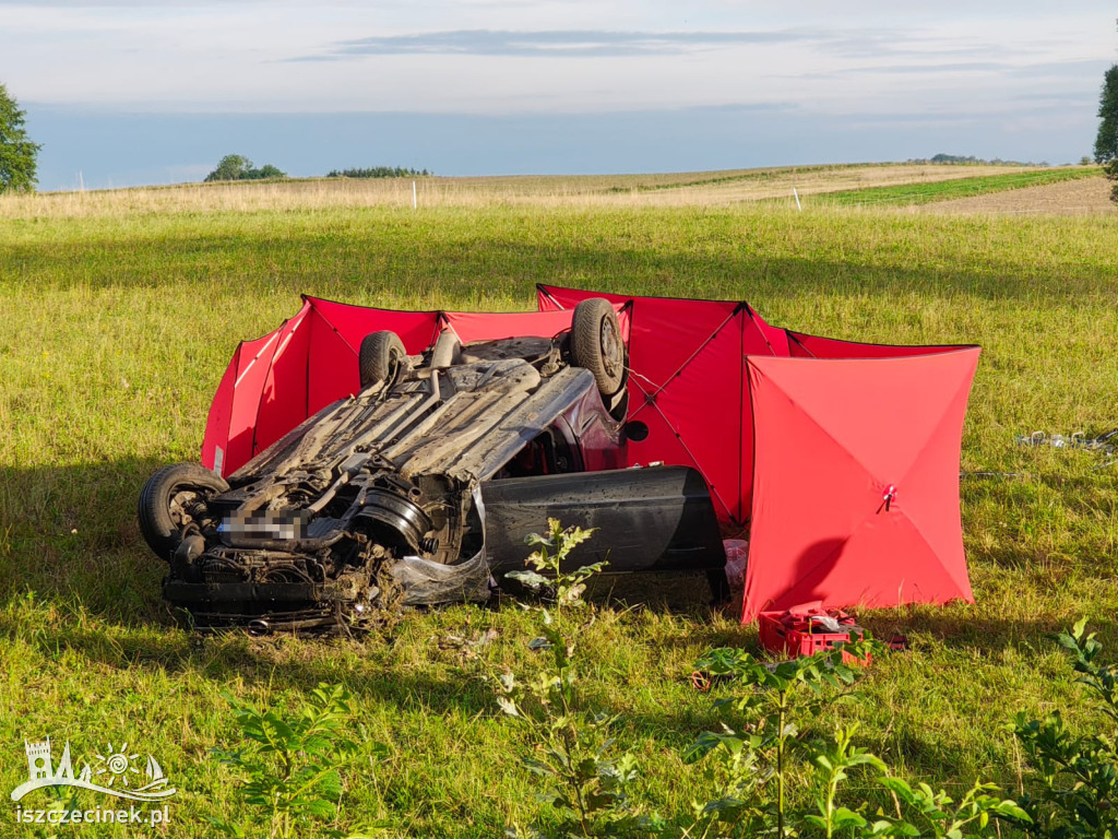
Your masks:
<path fill-rule="evenodd" d="M 816 717 L 859 679 L 861 669 L 844 661 L 844 651 L 865 660 L 885 648 L 864 638 L 777 664 L 732 649 L 713 650 L 698 661 L 700 670 L 729 679 L 737 691 L 714 703 L 723 714 L 722 729 L 703 733 L 684 753 L 689 763 L 713 757 L 705 776 L 719 792 L 693 804 L 688 836 L 967 839 L 983 836 L 992 819 L 1027 820 L 1015 802 L 989 794 L 996 790 L 989 784 L 976 783 L 955 802 L 927 784 L 912 788 L 890 776 L 879 757 L 854 745 L 853 727 L 833 738 L 806 739 L 800 720 Z M 790 792 L 804 764 L 814 808 L 802 811 Z M 877 782 L 892 793 L 896 816 L 871 812 L 865 801 L 843 803 L 843 783 L 862 767 L 879 773 Z"/>

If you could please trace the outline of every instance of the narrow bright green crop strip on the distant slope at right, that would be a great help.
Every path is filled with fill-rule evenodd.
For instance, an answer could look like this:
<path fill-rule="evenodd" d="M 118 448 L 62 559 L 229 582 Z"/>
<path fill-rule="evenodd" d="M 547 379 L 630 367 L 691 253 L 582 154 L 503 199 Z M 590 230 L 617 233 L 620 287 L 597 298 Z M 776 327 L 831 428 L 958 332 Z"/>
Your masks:
<path fill-rule="evenodd" d="M 1042 169 L 1032 172 L 1013 172 L 1010 175 L 987 175 L 976 178 L 959 178 L 930 183 L 901 183 L 893 187 L 869 187 L 866 189 L 845 189 L 836 192 L 825 192 L 813 196 L 814 202 L 825 202 L 837 206 L 907 206 L 913 204 L 930 204 L 932 201 L 949 201 L 953 198 L 972 198 L 989 192 L 1004 192 L 1007 189 L 1040 187 L 1048 183 L 1061 183 L 1067 180 L 1098 177 L 1096 167 L 1076 169 Z"/>

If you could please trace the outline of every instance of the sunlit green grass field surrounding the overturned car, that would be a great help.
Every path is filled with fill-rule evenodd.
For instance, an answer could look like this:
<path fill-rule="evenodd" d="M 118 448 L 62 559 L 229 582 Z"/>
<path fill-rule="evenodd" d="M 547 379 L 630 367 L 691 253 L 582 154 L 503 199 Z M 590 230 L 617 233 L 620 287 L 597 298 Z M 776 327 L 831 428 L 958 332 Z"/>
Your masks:
<path fill-rule="evenodd" d="M 579 204 L 553 200 L 552 183 L 534 204 L 413 211 L 410 183 L 406 206 L 237 189 L 236 206 L 221 190 L 0 200 L 0 789 L 25 780 L 25 737 L 69 738 L 83 755 L 127 741 L 180 790 L 153 833 L 209 836 L 205 817 L 234 801 L 209 754 L 237 736 L 221 692 L 294 708 L 329 681 L 353 692 L 359 735 L 388 747 L 347 772 L 343 824 L 492 837 L 533 818 L 520 732 L 439 644 L 492 628 L 489 654 L 523 668 L 517 609 L 407 614 L 362 640 L 253 640 L 197 638 L 160 600 L 139 488 L 197 458 L 236 342 L 293 314 L 301 292 L 506 310 L 531 308 L 547 282 L 747 299 L 770 322 L 851 340 L 980 343 L 963 469 L 1013 477 L 963 481 L 977 603 L 864 615 L 879 635 L 906 632 L 912 651 L 875 662 L 863 701 L 818 723 L 860 722 L 860 743 L 911 776 L 951 791 L 991 779 L 1015 794 L 1013 713 L 1082 717 L 1045 633 L 1087 615 L 1118 643 L 1118 465 L 1014 435 L 1118 425 L 1116 217 Z M 584 641 L 593 697 L 622 715 L 619 744 L 641 756 L 639 800 L 681 823 L 702 782 L 680 752 L 716 719 L 686 679 L 692 663 L 712 645 L 757 647 L 755 629 L 704 596 L 694 582 L 639 606 L 599 601 Z M 7 818 L 0 836 L 36 835 Z"/>

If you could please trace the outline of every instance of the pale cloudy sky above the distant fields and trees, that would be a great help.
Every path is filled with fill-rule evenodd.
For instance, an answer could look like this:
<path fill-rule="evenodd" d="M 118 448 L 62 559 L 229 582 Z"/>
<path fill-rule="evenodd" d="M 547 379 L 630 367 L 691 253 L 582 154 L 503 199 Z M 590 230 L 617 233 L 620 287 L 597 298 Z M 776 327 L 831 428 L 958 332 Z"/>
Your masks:
<path fill-rule="evenodd" d="M 705 171 L 937 153 L 1078 162 L 1112 2 L 0 0 L 44 190 Z"/>

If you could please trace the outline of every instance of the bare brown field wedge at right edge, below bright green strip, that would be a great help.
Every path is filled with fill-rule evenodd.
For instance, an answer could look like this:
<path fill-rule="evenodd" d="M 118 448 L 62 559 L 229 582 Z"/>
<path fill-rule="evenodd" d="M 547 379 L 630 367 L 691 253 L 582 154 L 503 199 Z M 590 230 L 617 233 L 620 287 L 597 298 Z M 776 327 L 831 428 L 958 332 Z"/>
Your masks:
<path fill-rule="evenodd" d="M 1088 216 L 1115 213 L 1118 205 L 1110 200 L 1110 183 L 1106 178 L 1080 178 L 1042 187 L 1007 189 L 1002 192 L 957 198 L 951 201 L 921 205 L 917 211 L 939 215 L 972 214 L 1052 214 Z"/>

